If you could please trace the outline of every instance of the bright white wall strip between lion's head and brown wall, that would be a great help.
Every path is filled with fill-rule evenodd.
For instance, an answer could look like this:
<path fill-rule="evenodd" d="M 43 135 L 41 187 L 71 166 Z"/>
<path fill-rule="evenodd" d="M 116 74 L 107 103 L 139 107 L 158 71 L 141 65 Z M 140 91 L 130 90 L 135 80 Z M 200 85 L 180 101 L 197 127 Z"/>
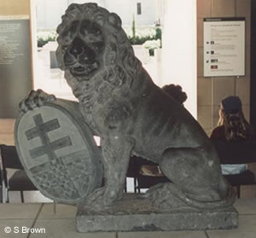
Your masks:
<path fill-rule="evenodd" d="M 160 1 L 159 9 L 162 24 L 160 86 L 181 85 L 188 96 L 184 106 L 196 119 L 196 0 Z"/>

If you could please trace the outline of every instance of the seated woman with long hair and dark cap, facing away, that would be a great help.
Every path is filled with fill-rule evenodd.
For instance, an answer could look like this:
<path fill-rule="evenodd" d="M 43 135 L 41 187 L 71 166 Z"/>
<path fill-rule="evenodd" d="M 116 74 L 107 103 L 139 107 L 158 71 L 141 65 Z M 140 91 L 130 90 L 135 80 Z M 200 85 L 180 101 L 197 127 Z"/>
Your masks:
<path fill-rule="evenodd" d="M 225 97 L 219 107 L 218 126 L 212 130 L 210 139 L 225 142 L 241 142 L 254 137 L 253 128 L 245 119 L 238 96 Z M 238 174 L 247 170 L 247 165 L 221 165 L 222 173 Z"/>

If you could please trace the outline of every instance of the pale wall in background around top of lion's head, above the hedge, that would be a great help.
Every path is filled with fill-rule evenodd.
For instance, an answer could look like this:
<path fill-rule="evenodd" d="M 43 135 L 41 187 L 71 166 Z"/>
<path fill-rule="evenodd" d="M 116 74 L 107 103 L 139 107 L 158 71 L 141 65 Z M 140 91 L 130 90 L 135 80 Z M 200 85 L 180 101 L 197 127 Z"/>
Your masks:
<path fill-rule="evenodd" d="M 61 15 L 71 3 L 97 3 L 120 16 L 123 26 L 131 26 L 132 15 L 135 15 L 137 26 L 154 25 L 157 2 L 148 0 L 55 0 L 37 1 L 38 29 L 55 29 L 61 23 Z M 142 3 L 142 15 L 137 15 L 137 3 Z"/>

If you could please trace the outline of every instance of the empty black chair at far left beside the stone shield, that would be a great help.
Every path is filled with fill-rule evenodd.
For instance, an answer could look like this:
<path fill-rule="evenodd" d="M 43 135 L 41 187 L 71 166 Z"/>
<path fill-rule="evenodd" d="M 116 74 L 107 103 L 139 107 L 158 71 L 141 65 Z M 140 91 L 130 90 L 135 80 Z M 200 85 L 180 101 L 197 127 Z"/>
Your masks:
<path fill-rule="evenodd" d="M 3 165 L 1 184 L 4 187 L 2 189 L 2 201 L 9 202 L 9 191 L 20 191 L 21 202 L 24 202 L 23 191 L 35 191 L 38 189 L 27 177 L 15 146 L 0 145 L 0 155 Z M 15 169 L 17 171 L 8 178 L 8 169 Z M 6 197 L 4 194 L 6 194 Z"/>

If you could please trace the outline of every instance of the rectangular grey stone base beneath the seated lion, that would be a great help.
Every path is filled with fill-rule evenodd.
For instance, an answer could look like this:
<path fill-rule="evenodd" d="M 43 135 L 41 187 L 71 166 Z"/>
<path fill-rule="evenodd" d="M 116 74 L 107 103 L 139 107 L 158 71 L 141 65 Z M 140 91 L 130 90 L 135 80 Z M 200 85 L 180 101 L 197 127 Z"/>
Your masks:
<path fill-rule="evenodd" d="M 126 197 L 101 214 L 78 211 L 76 224 L 79 232 L 234 229 L 238 226 L 238 212 L 233 206 L 208 211 L 182 207 L 160 212 L 154 211 L 147 200 Z"/>

